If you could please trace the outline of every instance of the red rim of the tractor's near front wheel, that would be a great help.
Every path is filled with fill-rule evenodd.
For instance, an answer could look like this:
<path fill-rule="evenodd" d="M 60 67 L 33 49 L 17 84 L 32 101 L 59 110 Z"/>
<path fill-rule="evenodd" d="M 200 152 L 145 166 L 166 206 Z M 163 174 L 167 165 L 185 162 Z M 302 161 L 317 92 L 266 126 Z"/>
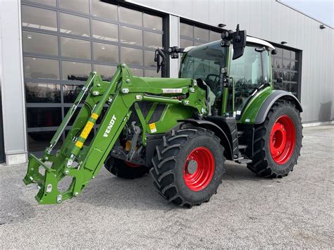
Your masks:
<path fill-rule="evenodd" d="M 211 151 L 204 146 L 192 150 L 183 168 L 185 185 L 192 191 L 200 191 L 209 185 L 213 176 L 214 155 Z"/>

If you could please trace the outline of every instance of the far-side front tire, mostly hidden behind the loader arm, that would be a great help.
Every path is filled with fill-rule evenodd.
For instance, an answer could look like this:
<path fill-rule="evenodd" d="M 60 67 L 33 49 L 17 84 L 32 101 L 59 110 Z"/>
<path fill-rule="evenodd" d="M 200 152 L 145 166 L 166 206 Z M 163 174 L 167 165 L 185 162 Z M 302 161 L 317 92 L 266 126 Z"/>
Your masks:
<path fill-rule="evenodd" d="M 124 179 L 135 179 L 142 177 L 146 173 L 149 173 L 149 168 L 144 165 L 131 167 L 130 165 L 125 163 L 125 161 L 114 158 L 113 156 L 109 156 L 106 159 L 106 161 L 104 162 L 104 166 L 113 175 Z"/>

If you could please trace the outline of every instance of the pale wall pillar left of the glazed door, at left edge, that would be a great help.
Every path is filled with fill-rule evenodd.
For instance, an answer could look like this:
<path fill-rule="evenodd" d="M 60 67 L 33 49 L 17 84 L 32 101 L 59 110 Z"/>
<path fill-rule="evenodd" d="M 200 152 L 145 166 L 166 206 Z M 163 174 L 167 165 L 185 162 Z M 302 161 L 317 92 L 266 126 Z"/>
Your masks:
<path fill-rule="evenodd" d="M 4 148 L 8 165 L 27 161 L 20 0 L 0 0 Z"/>

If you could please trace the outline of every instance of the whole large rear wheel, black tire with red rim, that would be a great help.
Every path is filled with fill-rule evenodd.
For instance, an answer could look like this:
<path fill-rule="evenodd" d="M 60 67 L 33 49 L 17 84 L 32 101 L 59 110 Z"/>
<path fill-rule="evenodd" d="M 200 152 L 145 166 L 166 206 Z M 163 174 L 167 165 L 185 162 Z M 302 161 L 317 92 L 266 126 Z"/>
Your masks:
<path fill-rule="evenodd" d="M 283 177 L 293 170 L 302 148 L 299 111 L 289 101 L 277 101 L 256 127 L 253 162 L 247 167 L 264 177 Z"/>

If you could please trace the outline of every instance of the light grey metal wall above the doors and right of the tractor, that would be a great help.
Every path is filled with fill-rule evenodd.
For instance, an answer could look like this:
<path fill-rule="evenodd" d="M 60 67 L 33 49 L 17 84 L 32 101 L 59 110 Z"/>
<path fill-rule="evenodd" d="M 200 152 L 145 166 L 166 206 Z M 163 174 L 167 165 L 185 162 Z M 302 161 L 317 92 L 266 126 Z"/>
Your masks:
<path fill-rule="evenodd" d="M 247 35 L 302 50 L 301 102 L 303 123 L 333 120 L 333 27 L 326 26 L 275 0 L 128 0 L 206 25 L 235 30 L 237 23 Z M 175 22 L 170 30 L 178 29 Z M 173 32 L 175 35 L 175 32 Z M 172 38 L 170 37 L 170 41 Z M 173 44 L 171 44 L 173 45 Z M 175 70 L 175 68 L 173 69 Z M 172 71 L 172 70 L 171 70 Z"/>

